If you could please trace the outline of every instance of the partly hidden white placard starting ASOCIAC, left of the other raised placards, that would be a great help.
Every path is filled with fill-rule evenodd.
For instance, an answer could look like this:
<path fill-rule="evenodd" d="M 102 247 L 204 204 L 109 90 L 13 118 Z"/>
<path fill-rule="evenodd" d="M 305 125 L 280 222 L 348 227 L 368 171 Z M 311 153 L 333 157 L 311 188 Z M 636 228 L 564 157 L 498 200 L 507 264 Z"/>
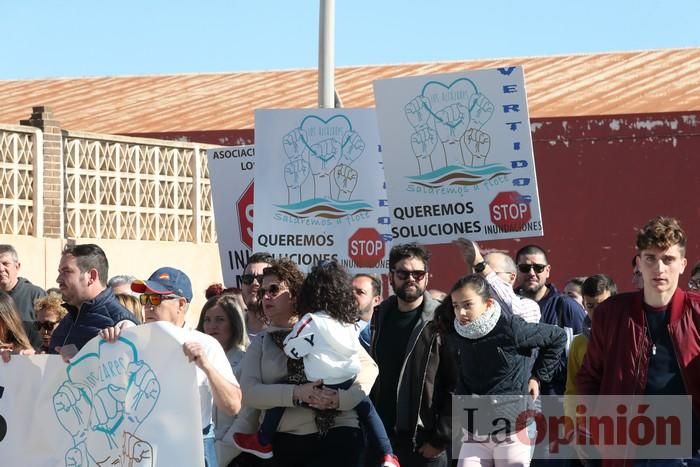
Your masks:
<path fill-rule="evenodd" d="M 240 287 L 253 247 L 255 147 L 207 149 L 221 273 L 227 287 Z"/>

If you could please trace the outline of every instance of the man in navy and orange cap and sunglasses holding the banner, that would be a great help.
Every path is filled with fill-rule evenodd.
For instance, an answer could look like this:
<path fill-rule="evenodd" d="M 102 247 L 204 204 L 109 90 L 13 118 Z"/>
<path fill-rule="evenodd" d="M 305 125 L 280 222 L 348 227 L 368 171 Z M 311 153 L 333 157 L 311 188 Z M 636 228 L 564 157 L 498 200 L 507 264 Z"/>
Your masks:
<path fill-rule="evenodd" d="M 163 267 L 151 274 L 148 280 L 132 282 L 131 290 L 141 294 L 139 299 L 147 323 L 167 321 L 182 330 L 179 334 L 182 350 L 196 365 L 205 464 L 216 467 L 212 407 L 216 404 L 228 415 L 236 415 L 241 408 L 241 390 L 221 344 L 207 334 L 185 328 L 185 314 L 192 300 L 190 278 L 179 269 Z M 109 342 L 115 342 L 120 334 L 119 328 L 100 332 Z"/>

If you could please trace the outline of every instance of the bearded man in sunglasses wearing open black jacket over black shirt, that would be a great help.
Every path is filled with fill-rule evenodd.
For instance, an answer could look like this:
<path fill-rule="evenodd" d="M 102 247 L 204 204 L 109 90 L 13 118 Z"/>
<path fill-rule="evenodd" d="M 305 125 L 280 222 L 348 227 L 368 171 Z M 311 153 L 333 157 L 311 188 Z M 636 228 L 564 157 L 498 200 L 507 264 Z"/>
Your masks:
<path fill-rule="evenodd" d="M 370 354 L 379 367 L 372 399 L 403 467 L 446 466 L 450 443 L 451 395 L 440 384 L 441 346 L 429 326 L 440 304 L 426 292 L 429 259 L 416 243 L 391 249 L 395 295 L 376 307 L 370 324 Z"/>

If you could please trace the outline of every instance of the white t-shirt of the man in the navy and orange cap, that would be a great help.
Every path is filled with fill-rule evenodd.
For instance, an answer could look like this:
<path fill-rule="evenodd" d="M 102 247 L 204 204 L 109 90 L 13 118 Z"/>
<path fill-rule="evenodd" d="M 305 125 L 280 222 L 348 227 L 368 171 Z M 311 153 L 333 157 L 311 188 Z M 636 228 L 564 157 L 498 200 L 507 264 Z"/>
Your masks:
<path fill-rule="evenodd" d="M 204 349 L 209 363 L 216 371 L 221 374 L 226 380 L 239 386 L 238 380 L 233 375 L 231 364 L 226 357 L 223 347 L 219 341 L 208 334 L 196 331 L 194 329 L 181 329 L 182 333 L 178 335 L 181 343 L 198 342 Z M 194 363 L 192 363 L 194 365 Z M 199 367 L 196 367 L 197 372 L 197 387 L 199 388 L 199 406 L 202 411 L 202 428 L 206 428 L 212 423 L 212 406 L 214 405 L 214 396 L 209 386 L 209 379 Z"/>

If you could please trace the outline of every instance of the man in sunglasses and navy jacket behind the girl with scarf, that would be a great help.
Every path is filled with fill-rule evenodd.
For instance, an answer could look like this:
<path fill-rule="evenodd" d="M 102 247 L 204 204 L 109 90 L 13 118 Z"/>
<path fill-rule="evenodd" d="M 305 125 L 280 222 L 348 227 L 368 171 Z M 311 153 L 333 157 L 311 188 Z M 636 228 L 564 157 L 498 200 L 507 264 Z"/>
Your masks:
<path fill-rule="evenodd" d="M 586 312 L 573 298 L 559 292 L 554 284 L 548 282 L 552 266 L 547 261 L 547 254 L 537 245 L 527 245 L 515 255 L 518 267 L 517 293 L 537 302 L 542 314 L 540 323 L 554 324 L 566 331 L 566 352 L 562 355 L 562 366 L 555 373 L 550 383 L 542 383 L 540 393 L 544 395 L 563 395 L 566 389 L 566 358 L 574 335 L 583 332 Z"/>

